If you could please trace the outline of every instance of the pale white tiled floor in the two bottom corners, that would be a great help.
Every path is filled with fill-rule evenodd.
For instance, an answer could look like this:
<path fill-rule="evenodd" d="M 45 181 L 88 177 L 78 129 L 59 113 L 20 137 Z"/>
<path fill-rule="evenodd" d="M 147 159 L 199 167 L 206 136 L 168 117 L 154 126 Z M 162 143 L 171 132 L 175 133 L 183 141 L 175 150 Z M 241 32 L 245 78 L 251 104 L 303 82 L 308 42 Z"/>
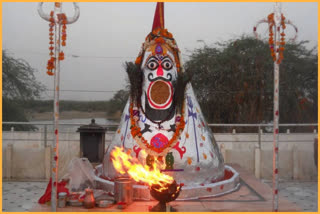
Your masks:
<path fill-rule="evenodd" d="M 262 180 L 272 186 L 271 181 Z M 47 182 L 3 182 L 2 211 L 28 212 L 44 194 Z M 280 181 L 280 195 L 296 203 L 304 212 L 318 211 L 318 183 Z"/>

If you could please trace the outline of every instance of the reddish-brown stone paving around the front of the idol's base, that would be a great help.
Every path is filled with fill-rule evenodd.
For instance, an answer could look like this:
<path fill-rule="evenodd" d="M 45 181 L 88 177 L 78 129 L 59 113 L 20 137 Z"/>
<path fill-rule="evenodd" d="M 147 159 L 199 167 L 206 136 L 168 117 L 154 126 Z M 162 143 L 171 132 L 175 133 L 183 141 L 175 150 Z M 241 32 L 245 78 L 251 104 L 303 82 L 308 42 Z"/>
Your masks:
<path fill-rule="evenodd" d="M 173 201 L 170 205 L 178 212 L 250 212 L 272 211 L 272 189 L 256 179 L 254 175 L 238 165 L 232 167 L 240 174 L 238 191 L 218 197 L 200 198 L 187 201 Z M 58 212 L 148 212 L 157 201 L 134 201 L 125 209 L 118 209 L 117 205 L 109 208 L 85 209 L 83 207 L 58 208 Z M 48 205 L 35 205 L 32 212 L 50 212 Z M 279 196 L 279 211 L 302 211 L 296 204 Z"/>

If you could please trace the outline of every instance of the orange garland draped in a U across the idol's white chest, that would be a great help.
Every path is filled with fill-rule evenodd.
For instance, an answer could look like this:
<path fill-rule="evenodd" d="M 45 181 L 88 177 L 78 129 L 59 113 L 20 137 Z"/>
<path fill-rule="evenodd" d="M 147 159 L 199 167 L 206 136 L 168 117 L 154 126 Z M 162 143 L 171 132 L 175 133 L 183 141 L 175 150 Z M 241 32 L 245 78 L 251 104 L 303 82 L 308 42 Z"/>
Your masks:
<path fill-rule="evenodd" d="M 138 121 L 134 119 L 134 113 L 133 113 L 133 103 L 130 103 L 130 120 L 131 120 L 131 135 L 136 140 L 136 142 L 139 144 L 139 146 L 142 149 L 147 150 L 148 154 L 155 155 L 155 156 L 162 156 L 165 155 L 172 147 L 176 145 L 176 143 L 179 140 L 180 134 L 184 130 L 185 127 L 185 121 L 184 121 L 184 111 L 182 109 L 181 111 L 181 120 L 179 122 L 179 125 L 176 127 L 176 130 L 172 136 L 172 138 L 169 140 L 168 144 L 165 145 L 162 148 L 155 148 L 152 145 L 148 143 L 148 141 L 142 136 L 141 128 L 137 125 Z"/>

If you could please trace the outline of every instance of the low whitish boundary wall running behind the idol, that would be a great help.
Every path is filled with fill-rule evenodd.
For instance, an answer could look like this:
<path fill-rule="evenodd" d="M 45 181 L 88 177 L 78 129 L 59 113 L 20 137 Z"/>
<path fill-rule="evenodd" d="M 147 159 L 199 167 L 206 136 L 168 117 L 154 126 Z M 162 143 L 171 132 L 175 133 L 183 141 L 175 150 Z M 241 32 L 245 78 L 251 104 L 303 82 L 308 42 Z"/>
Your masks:
<path fill-rule="evenodd" d="M 106 148 L 112 139 L 106 133 Z M 273 135 L 214 134 L 226 163 L 241 167 L 264 179 L 272 178 Z M 2 158 L 4 179 L 48 179 L 50 177 L 50 147 L 45 146 L 43 130 L 37 132 L 3 132 Z M 279 174 L 282 179 L 316 180 L 314 164 L 314 139 L 316 133 L 279 135 Z M 47 146 L 53 133 L 47 134 Z M 80 134 L 61 132 L 59 135 L 59 177 L 68 171 L 68 164 L 80 156 Z"/>

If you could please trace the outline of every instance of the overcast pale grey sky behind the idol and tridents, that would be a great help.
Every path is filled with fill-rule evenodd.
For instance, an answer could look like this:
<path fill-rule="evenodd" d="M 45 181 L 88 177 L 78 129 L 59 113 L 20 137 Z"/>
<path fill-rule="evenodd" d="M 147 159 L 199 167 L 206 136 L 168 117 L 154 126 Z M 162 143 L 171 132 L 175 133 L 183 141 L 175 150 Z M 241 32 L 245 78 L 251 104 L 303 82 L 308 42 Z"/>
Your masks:
<path fill-rule="evenodd" d="M 61 63 L 60 99 L 107 100 L 125 88 L 125 61 L 134 61 L 151 31 L 156 3 L 78 3 L 80 18 L 67 25 L 65 60 Z M 255 23 L 273 12 L 274 3 L 165 3 L 165 27 L 176 39 L 183 60 L 195 48 L 252 35 Z M 49 90 L 53 77 L 46 74 L 49 26 L 37 12 L 38 3 L 2 3 L 2 45 L 13 57 L 23 58 L 37 70 L 37 79 Z M 44 3 L 49 13 L 53 3 Z M 63 3 L 67 16 L 72 3 Z M 285 17 L 299 29 L 298 41 L 317 45 L 318 3 L 282 3 Z M 258 32 L 267 37 L 266 24 Z M 293 35 L 288 27 L 286 34 Z M 76 55 L 78 57 L 72 57 Z M 75 90 L 66 92 L 63 90 Z M 91 92 L 82 92 L 91 91 Z M 95 91 L 95 92 L 93 92 Z M 53 91 L 43 94 L 52 99 Z"/>

